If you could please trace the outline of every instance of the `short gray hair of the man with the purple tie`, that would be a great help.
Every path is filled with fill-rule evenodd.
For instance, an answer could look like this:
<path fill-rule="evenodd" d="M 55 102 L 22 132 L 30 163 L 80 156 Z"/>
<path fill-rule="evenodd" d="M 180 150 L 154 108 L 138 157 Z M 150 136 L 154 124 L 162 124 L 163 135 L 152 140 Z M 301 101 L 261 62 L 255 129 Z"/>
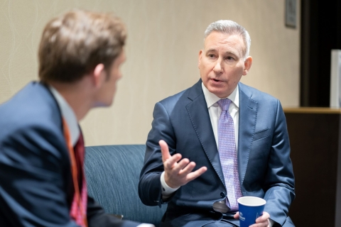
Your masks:
<path fill-rule="evenodd" d="M 250 46 L 251 46 L 251 38 L 247 30 L 243 26 L 239 26 L 238 23 L 234 21 L 229 21 L 229 20 L 220 20 L 220 21 L 215 21 L 211 23 L 205 31 L 205 39 L 207 38 L 212 31 L 217 31 L 219 33 L 226 33 L 229 35 L 240 35 L 242 36 L 244 40 L 244 45 L 245 45 L 245 50 L 244 50 L 244 60 L 247 59 L 247 56 L 249 56 L 250 52 Z"/>

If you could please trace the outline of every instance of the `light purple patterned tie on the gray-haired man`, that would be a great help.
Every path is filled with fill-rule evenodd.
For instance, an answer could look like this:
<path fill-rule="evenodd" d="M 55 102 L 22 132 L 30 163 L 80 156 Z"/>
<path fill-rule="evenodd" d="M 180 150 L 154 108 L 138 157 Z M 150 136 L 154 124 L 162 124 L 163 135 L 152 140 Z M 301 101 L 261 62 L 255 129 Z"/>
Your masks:
<path fill-rule="evenodd" d="M 237 199 L 242 196 L 242 192 L 239 184 L 234 123 L 229 114 L 231 100 L 220 99 L 217 101 L 217 104 L 222 109 L 218 123 L 218 145 L 222 172 L 227 189 L 227 206 L 231 208 L 231 211 L 238 211 Z"/>

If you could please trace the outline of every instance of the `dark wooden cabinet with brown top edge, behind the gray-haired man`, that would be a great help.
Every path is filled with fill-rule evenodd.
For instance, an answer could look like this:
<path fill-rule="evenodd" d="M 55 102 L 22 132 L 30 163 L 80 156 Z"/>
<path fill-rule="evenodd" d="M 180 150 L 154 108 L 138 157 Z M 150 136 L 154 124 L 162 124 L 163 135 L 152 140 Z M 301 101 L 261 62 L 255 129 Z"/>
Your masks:
<path fill-rule="evenodd" d="M 284 109 L 291 144 L 296 226 L 341 226 L 341 109 Z"/>

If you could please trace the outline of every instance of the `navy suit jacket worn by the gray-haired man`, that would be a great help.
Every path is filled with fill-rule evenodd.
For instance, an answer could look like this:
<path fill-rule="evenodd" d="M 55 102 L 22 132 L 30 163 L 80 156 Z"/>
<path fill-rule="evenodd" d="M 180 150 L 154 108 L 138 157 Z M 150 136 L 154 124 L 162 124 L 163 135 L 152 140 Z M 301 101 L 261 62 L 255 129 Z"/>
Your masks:
<path fill-rule="evenodd" d="M 163 226 L 202 226 L 222 218 L 212 204 L 226 198 L 227 190 L 212 131 L 201 79 L 179 94 L 158 102 L 146 142 L 139 196 L 149 206 L 168 202 Z M 283 225 L 295 197 L 293 167 L 286 118 L 280 102 L 242 83 L 239 86 L 238 171 L 243 196 L 266 200 L 265 211 Z M 161 199 L 163 162 L 159 140 L 168 143 L 171 155 L 180 153 L 207 172 L 180 187 L 169 201 Z M 290 218 L 288 218 L 290 219 Z"/>

